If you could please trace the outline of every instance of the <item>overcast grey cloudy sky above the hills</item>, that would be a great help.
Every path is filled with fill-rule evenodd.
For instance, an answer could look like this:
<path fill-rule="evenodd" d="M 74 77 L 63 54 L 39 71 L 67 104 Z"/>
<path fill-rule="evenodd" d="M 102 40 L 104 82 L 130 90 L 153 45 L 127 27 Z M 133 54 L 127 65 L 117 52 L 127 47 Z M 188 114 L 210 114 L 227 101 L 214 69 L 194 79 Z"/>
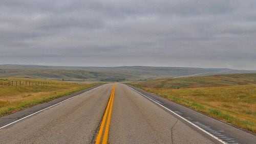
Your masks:
<path fill-rule="evenodd" d="M 10 1 L 0 64 L 256 69 L 256 1 Z"/>

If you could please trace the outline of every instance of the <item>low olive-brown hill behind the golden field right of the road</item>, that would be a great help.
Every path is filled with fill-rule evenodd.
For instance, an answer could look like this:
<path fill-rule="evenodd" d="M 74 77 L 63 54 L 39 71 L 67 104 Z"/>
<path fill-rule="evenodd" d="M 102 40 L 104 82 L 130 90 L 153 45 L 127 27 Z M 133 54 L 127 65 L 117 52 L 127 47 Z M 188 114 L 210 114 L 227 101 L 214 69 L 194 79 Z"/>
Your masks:
<path fill-rule="evenodd" d="M 256 73 L 183 77 L 134 82 L 132 85 L 148 88 L 193 88 L 256 84 Z"/>

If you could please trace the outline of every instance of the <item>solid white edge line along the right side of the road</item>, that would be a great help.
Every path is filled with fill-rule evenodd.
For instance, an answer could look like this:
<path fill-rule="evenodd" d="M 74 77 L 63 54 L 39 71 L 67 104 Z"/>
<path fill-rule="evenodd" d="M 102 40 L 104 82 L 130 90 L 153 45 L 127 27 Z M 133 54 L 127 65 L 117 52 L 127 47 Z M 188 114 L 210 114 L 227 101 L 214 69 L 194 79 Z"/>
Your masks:
<path fill-rule="evenodd" d="M 179 114 L 175 113 L 174 111 L 172 111 L 172 110 L 170 110 L 170 109 L 166 108 L 165 106 L 163 106 L 163 105 L 161 105 L 161 104 L 157 103 L 156 101 L 154 101 L 154 99 L 152 99 L 152 98 L 150 98 L 150 97 L 147 97 L 146 95 L 142 94 L 141 92 L 139 92 L 139 91 L 135 90 L 134 88 L 132 88 L 132 87 L 130 87 L 130 86 L 127 86 L 127 87 L 129 87 L 129 88 L 131 88 L 132 90 L 134 90 L 134 91 L 138 92 L 139 94 L 143 95 L 145 98 L 147 98 L 147 99 L 149 99 L 149 100 L 153 101 L 154 103 L 158 104 L 159 106 L 163 107 L 164 109 L 166 109 L 166 110 L 168 110 L 168 111 L 170 111 L 170 112 L 174 113 L 175 115 L 179 116 L 180 118 L 182 118 L 184 121 L 186 121 L 186 122 L 187 122 L 187 123 L 189 123 L 190 125 L 193 125 L 194 127 L 198 128 L 199 130 L 203 131 L 204 133 L 208 134 L 209 136 L 211 136 L 211 137 L 213 137 L 213 138 L 217 139 L 217 140 L 218 140 L 218 141 L 220 141 L 221 143 L 227 143 L 227 142 L 225 142 L 225 141 L 221 140 L 220 138 L 216 137 L 215 135 L 213 135 L 213 134 L 211 134 L 211 133 L 209 133 L 209 132 L 205 131 L 204 129 L 200 128 L 199 126 L 197 126 L 197 125 L 195 125 L 195 124 L 191 123 L 191 122 L 190 122 L 190 121 L 188 121 L 186 118 L 184 118 L 184 117 L 180 116 Z"/>

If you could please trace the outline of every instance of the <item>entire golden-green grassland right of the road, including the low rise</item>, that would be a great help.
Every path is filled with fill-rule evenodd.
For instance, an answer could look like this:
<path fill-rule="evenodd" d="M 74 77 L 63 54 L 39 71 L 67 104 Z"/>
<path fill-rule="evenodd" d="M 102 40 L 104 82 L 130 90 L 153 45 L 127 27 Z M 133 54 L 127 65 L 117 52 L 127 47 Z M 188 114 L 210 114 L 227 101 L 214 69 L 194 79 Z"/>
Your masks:
<path fill-rule="evenodd" d="M 162 79 L 132 85 L 256 133 L 255 83 L 256 74 L 239 74 Z"/>

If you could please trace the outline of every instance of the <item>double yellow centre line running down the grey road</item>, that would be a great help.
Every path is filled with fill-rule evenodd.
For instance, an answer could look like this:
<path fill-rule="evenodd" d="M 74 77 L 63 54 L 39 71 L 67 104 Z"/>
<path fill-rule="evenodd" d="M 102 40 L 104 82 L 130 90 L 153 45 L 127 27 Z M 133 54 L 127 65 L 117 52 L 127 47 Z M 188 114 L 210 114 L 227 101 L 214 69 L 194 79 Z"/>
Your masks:
<path fill-rule="evenodd" d="M 116 89 L 116 84 L 112 88 L 112 92 L 110 94 L 110 99 L 109 99 L 108 105 L 106 106 L 106 111 L 103 115 L 99 133 L 98 133 L 96 141 L 95 141 L 96 144 L 99 144 L 101 139 L 102 139 L 102 143 L 108 143 L 109 130 L 110 130 L 110 119 L 111 119 L 111 113 L 112 113 L 112 109 L 113 109 L 115 89 Z M 107 117 L 108 117 L 108 119 L 107 119 Z M 106 123 L 106 125 L 105 125 L 105 123 Z M 104 128 L 105 128 L 105 130 L 104 130 Z M 104 130 L 104 135 L 102 138 L 103 130 Z"/>

